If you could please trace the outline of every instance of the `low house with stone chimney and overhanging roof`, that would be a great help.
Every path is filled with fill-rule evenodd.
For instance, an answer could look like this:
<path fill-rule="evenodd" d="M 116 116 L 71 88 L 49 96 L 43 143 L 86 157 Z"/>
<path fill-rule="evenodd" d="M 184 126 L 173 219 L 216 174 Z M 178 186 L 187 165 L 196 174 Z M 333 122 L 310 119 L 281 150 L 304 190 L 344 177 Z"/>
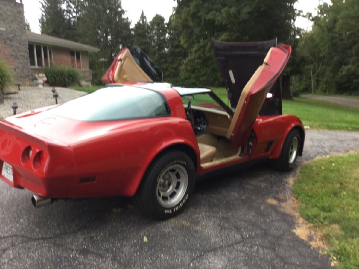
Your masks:
<path fill-rule="evenodd" d="M 27 85 L 42 67 L 71 65 L 83 74 L 82 85 L 90 85 L 89 53 L 99 49 L 70 40 L 36 34 L 25 29 L 22 0 L 0 0 L 0 59 L 11 66 L 15 79 Z"/>

